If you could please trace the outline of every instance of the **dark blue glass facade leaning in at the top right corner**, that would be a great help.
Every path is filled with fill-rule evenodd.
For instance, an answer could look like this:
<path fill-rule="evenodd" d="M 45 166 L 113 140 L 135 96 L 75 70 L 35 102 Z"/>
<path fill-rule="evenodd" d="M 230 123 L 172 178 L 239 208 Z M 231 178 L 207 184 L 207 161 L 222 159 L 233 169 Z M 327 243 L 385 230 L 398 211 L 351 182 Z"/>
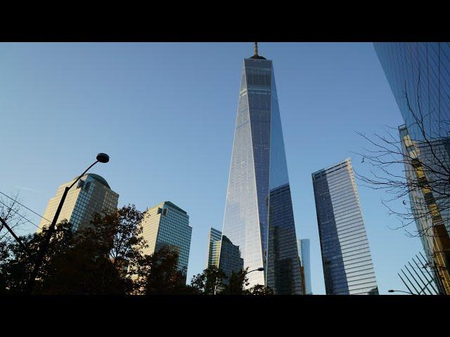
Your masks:
<path fill-rule="evenodd" d="M 419 109 L 427 133 L 433 137 L 449 136 L 450 43 L 392 42 L 373 46 L 411 138 L 422 138 L 413 117 L 420 114 Z"/>

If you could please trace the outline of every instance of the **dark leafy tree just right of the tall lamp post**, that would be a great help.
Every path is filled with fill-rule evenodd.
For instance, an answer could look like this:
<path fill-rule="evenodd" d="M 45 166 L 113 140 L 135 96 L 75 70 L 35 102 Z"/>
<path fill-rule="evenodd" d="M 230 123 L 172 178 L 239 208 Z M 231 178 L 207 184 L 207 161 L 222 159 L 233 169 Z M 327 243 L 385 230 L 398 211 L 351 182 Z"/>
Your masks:
<path fill-rule="evenodd" d="M 58 257 L 44 293 L 124 294 L 134 290 L 129 263 L 139 260 L 146 242 L 139 234 L 142 213 L 134 205 L 113 213 L 95 213 Z"/>

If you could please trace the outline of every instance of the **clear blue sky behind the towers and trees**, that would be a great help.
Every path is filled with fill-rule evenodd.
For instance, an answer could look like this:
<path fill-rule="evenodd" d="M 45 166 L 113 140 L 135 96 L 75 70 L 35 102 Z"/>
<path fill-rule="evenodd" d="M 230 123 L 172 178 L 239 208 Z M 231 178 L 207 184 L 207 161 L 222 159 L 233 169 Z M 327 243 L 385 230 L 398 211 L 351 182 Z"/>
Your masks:
<path fill-rule="evenodd" d="M 221 230 L 243 58 L 249 43 L 0 44 L 0 191 L 20 189 L 37 213 L 58 185 L 91 173 L 142 211 L 161 201 L 193 227 L 188 279 L 205 268 L 207 232 Z M 371 135 L 403 124 L 368 43 L 259 43 L 274 61 L 297 236 L 311 239 L 312 291 L 325 293 L 311 173 L 350 157 Z M 392 230 L 386 196 L 359 184 L 380 293 L 421 251 Z M 27 212 L 39 224 L 39 218 Z M 411 228 L 413 229 L 413 228 Z M 19 234 L 33 232 L 25 225 Z"/>

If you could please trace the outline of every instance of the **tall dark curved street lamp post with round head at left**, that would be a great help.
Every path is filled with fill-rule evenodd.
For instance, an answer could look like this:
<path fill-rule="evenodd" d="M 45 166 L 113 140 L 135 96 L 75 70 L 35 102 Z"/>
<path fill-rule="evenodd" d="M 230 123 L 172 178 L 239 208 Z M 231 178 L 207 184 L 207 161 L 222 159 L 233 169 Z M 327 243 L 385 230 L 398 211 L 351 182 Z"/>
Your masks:
<path fill-rule="evenodd" d="M 32 275 L 30 277 L 30 279 L 27 282 L 27 292 L 28 293 L 32 293 L 33 287 L 34 287 L 34 282 L 36 281 L 36 277 L 37 274 L 39 272 L 39 268 L 42 265 L 42 261 L 44 260 L 45 254 L 47 249 L 49 249 L 49 243 L 50 243 L 50 239 L 51 239 L 51 235 L 53 234 L 53 232 L 55 232 L 55 227 L 56 227 L 56 220 L 58 220 L 59 214 L 61 212 L 61 209 L 63 209 L 63 204 L 65 201 L 65 197 L 67 197 L 69 190 L 72 188 L 73 185 L 75 185 L 75 183 L 77 183 L 77 181 L 82 178 L 82 176 L 84 176 L 84 174 L 89 171 L 89 169 L 91 169 L 92 166 L 94 166 L 95 164 L 97 164 L 98 162 L 101 163 L 108 163 L 108 161 L 110 161 L 110 157 L 108 156 L 108 154 L 105 153 L 99 153 L 97 154 L 96 157 L 96 161 L 94 161 L 94 164 L 91 164 L 91 166 L 89 166 L 73 183 L 72 185 L 70 185 L 69 187 L 65 187 L 64 193 L 63 193 L 63 197 L 61 197 L 61 200 L 59 202 L 58 205 L 58 209 L 56 209 L 56 213 L 55 216 L 53 217 L 53 221 L 51 222 L 51 225 L 49 227 L 49 229 L 46 231 L 46 234 L 44 236 L 44 241 L 41 244 L 41 247 L 39 247 L 39 251 L 37 252 L 37 258 L 34 261 L 34 268 L 32 271 Z"/>

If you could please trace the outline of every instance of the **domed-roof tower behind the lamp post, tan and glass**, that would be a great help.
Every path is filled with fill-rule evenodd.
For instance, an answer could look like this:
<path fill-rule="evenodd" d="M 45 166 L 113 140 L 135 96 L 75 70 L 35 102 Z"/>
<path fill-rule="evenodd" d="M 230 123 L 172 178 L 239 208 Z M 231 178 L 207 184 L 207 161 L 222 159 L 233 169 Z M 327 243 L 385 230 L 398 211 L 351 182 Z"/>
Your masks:
<path fill-rule="evenodd" d="M 51 198 L 47 205 L 44 213 L 45 219 L 53 219 L 65 187 L 72 185 L 77 178 L 75 177 L 58 187 L 56 196 Z M 94 173 L 86 173 L 80 178 L 77 185 L 69 190 L 56 223 L 66 219 L 69 223 L 72 223 L 73 230 L 77 231 L 79 228 L 89 225 L 94 213 L 115 211 L 118 200 L 119 194 L 111 190 L 105 179 Z M 39 223 L 38 232 L 42 230 L 43 226 L 50 225 L 49 221 L 44 218 Z"/>

